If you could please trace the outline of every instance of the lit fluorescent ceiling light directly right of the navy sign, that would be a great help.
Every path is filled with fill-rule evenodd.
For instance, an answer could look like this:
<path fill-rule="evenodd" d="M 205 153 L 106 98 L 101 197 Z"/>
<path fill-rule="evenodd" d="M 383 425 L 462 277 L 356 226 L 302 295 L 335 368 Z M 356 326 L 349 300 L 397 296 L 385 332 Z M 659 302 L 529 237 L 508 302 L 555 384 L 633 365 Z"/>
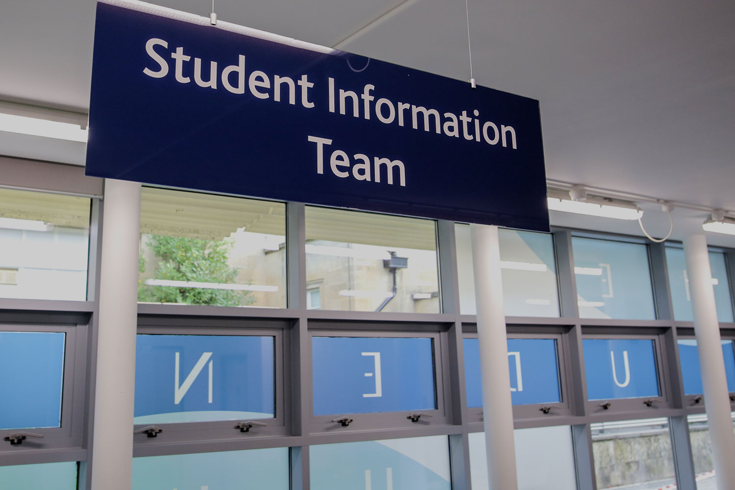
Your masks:
<path fill-rule="evenodd" d="M 572 186 L 568 192 L 549 189 L 547 202 L 549 209 L 578 215 L 611 217 L 617 220 L 638 220 L 643 215 L 642 210 L 632 201 L 592 196 L 579 184 Z"/>

